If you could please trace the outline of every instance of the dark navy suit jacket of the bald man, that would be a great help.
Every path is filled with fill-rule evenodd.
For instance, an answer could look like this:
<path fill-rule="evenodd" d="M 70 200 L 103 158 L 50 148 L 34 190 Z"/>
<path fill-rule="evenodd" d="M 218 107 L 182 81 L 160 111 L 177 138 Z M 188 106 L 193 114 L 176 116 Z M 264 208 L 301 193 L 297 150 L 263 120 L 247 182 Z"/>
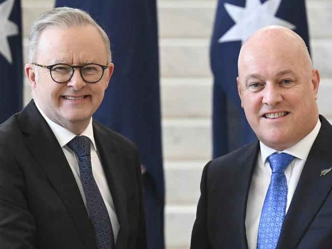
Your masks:
<path fill-rule="evenodd" d="M 332 126 L 321 128 L 284 218 L 278 249 L 332 248 Z M 246 207 L 259 152 L 256 141 L 210 161 L 203 170 L 191 249 L 248 248 Z"/>

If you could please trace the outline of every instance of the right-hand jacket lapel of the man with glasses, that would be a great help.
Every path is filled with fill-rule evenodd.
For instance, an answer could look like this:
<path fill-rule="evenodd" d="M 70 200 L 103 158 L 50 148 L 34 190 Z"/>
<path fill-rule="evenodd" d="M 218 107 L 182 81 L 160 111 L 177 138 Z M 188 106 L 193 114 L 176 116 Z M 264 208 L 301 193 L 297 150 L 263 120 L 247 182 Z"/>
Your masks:
<path fill-rule="evenodd" d="M 117 234 L 116 248 L 119 245 L 126 245 L 128 224 L 127 201 L 124 186 L 124 176 L 122 171 L 121 160 L 118 153 L 118 144 L 109 139 L 109 134 L 93 122 L 93 136 L 96 140 L 98 152 L 101 157 L 102 165 L 105 171 L 107 183 L 112 195 L 116 216 L 120 224 L 120 230 Z M 105 138 L 108 139 L 105 139 Z"/>

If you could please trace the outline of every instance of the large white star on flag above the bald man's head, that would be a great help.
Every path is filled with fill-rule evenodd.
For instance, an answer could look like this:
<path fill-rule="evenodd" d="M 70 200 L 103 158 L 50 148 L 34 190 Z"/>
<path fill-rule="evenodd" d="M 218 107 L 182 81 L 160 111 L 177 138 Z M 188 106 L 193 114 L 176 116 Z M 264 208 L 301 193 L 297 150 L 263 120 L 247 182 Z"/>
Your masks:
<path fill-rule="evenodd" d="M 243 44 L 255 31 L 268 25 L 279 25 L 294 30 L 294 24 L 275 16 L 280 3 L 281 0 L 268 0 L 264 4 L 260 0 L 247 0 L 245 8 L 224 3 L 235 24 L 218 42 L 241 40 Z"/>

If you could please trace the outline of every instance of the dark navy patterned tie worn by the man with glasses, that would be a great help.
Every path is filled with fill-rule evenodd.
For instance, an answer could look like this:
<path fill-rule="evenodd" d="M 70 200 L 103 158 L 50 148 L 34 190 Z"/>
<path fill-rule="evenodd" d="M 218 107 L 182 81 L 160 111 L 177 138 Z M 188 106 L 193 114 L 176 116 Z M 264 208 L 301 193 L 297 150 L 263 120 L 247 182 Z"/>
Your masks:
<path fill-rule="evenodd" d="M 94 237 L 98 249 L 114 249 L 114 236 L 103 197 L 94 181 L 91 168 L 90 139 L 85 136 L 76 136 L 67 143 L 67 146 L 78 156 L 80 177 L 84 189 L 86 202 L 90 212 Z"/>

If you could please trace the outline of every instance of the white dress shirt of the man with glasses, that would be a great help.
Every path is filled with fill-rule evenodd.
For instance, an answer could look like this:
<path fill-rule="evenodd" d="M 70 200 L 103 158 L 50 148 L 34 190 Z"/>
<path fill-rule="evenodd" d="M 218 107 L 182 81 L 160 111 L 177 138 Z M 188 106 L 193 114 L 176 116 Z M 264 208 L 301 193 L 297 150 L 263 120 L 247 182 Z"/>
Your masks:
<path fill-rule="evenodd" d="M 80 190 L 80 193 L 82 195 L 83 202 L 85 204 L 85 208 L 87 210 L 87 213 L 89 214 L 88 211 L 88 206 L 86 203 L 86 198 L 80 178 L 80 169 L 78 166 L 78 158 L 77 155 L 70 150 L 70 148 L 66 145 L 70 140 L 72 140 L 74 137 L 76 137 L 76 134 L 73 132 L 63 128 L 62 126 L 59 126 L 59 124 L 53 122 L 50 118 L 48 118 L 43 111 L 40 109 L 38 104 L 35 102 L 39 112 L 41 115 L 45 118 L 46 122 L 48 122 L 51 130 L 53 131 L 55 137 L 57 138 L 62 151 L 69 163 L 70 169 L 73 171 L 74 178 L 76 180 L 77 186 Z M 96 146 L 96 143 L 94 142 L 94 137 L 93 137 L 93 129 L 92 129 L 92 118 L 85 129 L 85 131 L 81 134 L 84 135 L 91 140 L 91 165 L 92 165 L 92 174 L 94 177 L 94 180 L 96 181 L 98 188 L 100 190 L 100 193 L 103 197 L 104 203 L 106 205 L 107 212 L 109 214 L 111 223 L 112 223 L 112 229 L 113 229 L 113 234 L 114 234 L 114 242 L 116 242 L 117 238 L 117 233 L 118 230 L 120 229 L 120 225 L 117 220 L 117 216 L 115 213 L 115 207 L 113 203 L 113 199 L 107 184 L 106 176 L 104 169 L 101 164 L 100 157 L 98 155 L 98 148 Z"/>

